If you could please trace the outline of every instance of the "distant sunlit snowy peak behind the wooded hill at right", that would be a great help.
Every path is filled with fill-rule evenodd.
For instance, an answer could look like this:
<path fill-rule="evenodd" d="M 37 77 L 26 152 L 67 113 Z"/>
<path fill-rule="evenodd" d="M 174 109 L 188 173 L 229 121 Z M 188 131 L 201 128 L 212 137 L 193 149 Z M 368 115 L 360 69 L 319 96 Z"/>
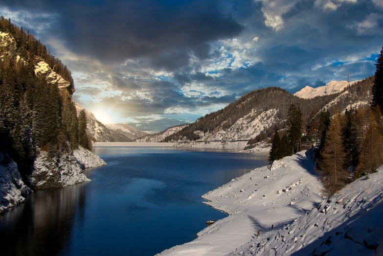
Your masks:
<path fill-rule="evenodd" d="M 358 80 L 352 81 L 350 83 L 348 83 L 347 81 L 331 81 L 327 85 L 320 86 L 317 88 L 306 86 L 299 92 L 294 93 L 294 95 L 300 98 L 309 99 L 309 98 L 314 98 L 316 96 L 324 96 L 324 95 L 330 95 L 334 93 L 340 93 L 348 85 L 355 84 L 356 82 L 358 82 Z"/>

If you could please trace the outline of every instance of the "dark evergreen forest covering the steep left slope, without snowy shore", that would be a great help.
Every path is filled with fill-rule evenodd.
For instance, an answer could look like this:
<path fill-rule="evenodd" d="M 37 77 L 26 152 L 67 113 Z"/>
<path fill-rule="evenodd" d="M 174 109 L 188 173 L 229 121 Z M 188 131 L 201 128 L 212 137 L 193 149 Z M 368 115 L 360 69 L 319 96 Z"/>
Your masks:
<path fill-rule="evenodd" d="M 7 52 L 0 59 L 1 153 L 15 160 L 24 176 L 31 171 L 40 150 L 54 158 L 79 145 L 89 149 L 86 115 L 80 112 L 77 116 L 72 91 L 59 90 L 56 85 L 47 83 L 44 75 L 35 74 L 35 53 L 47 61 L 51 59 L 54 65 L 61 61 L 47 54 L 32 35 L 10 20 L 0 19 L 0 31 L 16 36 L 16 48 L 9 48 L 9 42 L 3 42 L 7 49 L 0 48 Z M 73 83 L 66 67 L 58 66 L 64 67 L 63 77 L 67 75 Z"/>

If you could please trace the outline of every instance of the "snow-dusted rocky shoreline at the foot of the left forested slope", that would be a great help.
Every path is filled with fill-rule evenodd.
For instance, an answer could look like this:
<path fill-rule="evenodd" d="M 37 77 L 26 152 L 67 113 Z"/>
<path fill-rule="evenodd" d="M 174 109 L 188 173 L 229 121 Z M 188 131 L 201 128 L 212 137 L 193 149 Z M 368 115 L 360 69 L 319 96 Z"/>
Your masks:
<path fill-rule="evenodd" d="M 7 159 L 5 159 L 7 158 Z M 70 186 L 90 181 L 82 169 L 107 165 L 96 154 L 82 147 L 71 154 L 61 154 L 50 159 L 42 151 L 34 163 L 34 170 L 28 176 L 33 189 Z M 0 213 L 25 201 L 32 190 L 23 183 L 17 164 L 0 154 Z"/>

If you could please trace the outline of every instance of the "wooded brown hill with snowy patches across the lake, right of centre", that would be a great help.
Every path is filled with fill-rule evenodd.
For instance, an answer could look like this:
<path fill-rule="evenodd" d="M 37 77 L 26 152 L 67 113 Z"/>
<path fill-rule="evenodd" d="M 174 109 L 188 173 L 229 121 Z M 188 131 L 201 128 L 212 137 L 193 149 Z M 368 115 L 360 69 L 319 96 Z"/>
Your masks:
<path fill-rule="evenodd" d="M 371 100 L 373 77 L 364 79 L 343 92 L 303 99 L 279 87 L 252 91 L 224 109 L 199 118 L 196 122 L 163 141 L 181 140 L 250 140 L 249 144 L 271 138 L 275 129 L 287 127 L 288 108 L 294 104 L 302 112 L 303 123 L 321 109 L 334 115 L 349 104 L 362 105 Z"/>

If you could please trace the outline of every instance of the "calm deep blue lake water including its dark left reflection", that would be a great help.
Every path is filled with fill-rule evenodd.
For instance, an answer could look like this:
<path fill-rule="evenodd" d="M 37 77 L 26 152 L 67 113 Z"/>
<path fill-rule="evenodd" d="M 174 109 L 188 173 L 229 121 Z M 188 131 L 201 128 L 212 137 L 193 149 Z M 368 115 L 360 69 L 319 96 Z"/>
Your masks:
<path fill-rule="evenodd" d="M 267 164 L 267 155 L 174 148 L 94 148 L 108 166 L 88 183 L 32 193 L 0 215 L 1 255 L 155 255 L 225 213 L 206 191 Z"/>

